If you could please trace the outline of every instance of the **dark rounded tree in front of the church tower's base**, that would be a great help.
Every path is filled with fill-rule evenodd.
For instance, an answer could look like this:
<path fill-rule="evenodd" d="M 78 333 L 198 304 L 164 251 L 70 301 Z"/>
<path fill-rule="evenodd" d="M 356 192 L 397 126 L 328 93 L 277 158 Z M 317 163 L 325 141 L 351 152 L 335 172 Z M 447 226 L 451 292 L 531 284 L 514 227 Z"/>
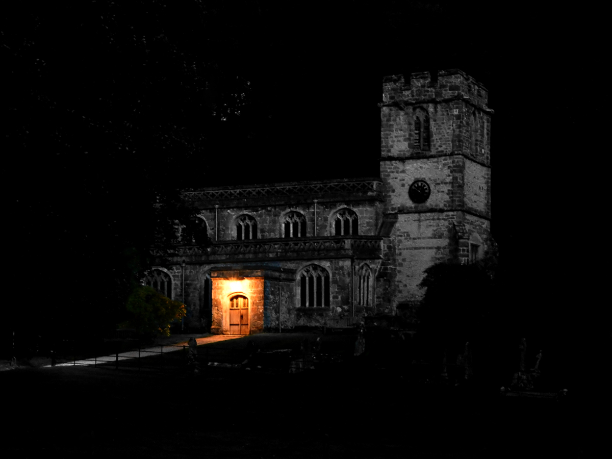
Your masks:
<path fill-rule="evenodd" d="M 446 351 L 455 364 L 469 342 L 475 375 L 480 381 L 504 381 L 514 362 L 512 302 L 504 297 L 496 256 L 473 264 L 438 263 L 425 270 L 427 288 L 418 310 L 422 358 L 436 364 Z"/>

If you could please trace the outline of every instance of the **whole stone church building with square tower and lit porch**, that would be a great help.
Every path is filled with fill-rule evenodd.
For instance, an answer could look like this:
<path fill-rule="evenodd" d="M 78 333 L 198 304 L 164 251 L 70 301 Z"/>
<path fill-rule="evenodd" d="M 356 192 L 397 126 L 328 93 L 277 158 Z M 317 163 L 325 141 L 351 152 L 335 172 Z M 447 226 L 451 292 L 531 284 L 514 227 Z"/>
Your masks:
<path fill-rule="evenodd" d="M 154 252 L 146 283 L 187 305 L 186 326 L 215 334 L 417 307 L 425 268 L 493 244 L 487 99 L 460 70 L 384 78 L 379 177 L 185 191 L 196 230 Z"/>

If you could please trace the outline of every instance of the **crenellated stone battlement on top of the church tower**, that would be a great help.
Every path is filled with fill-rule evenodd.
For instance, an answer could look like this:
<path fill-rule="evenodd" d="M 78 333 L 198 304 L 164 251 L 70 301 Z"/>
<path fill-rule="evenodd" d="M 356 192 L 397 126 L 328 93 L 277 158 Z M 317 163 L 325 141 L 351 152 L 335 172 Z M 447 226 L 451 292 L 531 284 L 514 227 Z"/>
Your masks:
<path fill-rule="evenodd" d="M 488 108 L 487 88 L 459 69 L 439 70 L 437 78 L 430 72 L 411 73 L 406 82 L 404 75 L 383 78 L 383 104 L 412 105 L 416 103 L 466 100 L 481 110 Z"/>

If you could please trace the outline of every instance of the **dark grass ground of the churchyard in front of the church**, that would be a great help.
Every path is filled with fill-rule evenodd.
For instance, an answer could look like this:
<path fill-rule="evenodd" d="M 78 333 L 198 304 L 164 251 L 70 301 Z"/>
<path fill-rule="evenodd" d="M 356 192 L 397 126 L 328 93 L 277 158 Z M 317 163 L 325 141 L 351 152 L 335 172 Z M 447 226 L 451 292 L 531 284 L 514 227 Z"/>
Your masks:
<path fill-rule="evenodd" d="M 241 350 L 346 349 L 331 335 L 254 335 Z M 201 346 L 202 347 L 202 346 Z M 586 458 L 584 408 L 408 384 L 356 364 L 269 375 L 20 368 L 0 373 L 3 457 Z"/>

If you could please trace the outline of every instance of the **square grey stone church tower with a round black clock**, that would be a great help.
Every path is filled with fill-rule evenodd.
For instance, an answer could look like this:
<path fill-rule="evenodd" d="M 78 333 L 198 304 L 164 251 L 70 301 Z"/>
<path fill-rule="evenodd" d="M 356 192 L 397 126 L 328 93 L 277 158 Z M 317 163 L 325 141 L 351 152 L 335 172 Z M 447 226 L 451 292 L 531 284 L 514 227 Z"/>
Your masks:
<path fill-rule="evenodd" d="M 417 305 L 431 264 L 472 263 L 491 248 L 487 102 L 487 89 L 461 70 L 384 79 L 382 309 Z"/>

